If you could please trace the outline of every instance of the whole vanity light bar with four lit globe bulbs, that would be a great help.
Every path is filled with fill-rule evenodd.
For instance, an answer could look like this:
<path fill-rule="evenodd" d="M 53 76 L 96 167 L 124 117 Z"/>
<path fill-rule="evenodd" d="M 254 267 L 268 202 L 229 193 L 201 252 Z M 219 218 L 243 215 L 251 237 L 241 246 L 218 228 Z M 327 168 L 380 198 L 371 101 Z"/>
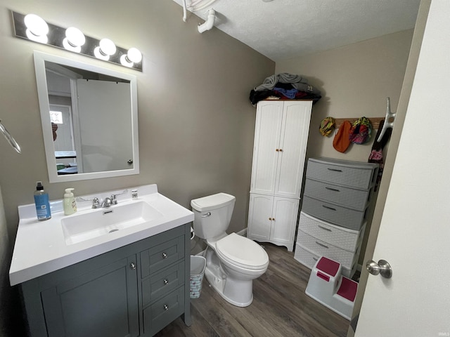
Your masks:
<path fill-rule="evenodd" d="M 98 40 L 84 35 L 76 27 L 65 29 L 52 25 L 38 15 L 11 13 L 16 37 L 142 71 L 142 53 L 137 48 L 120 48 L 110 39 Z"/>

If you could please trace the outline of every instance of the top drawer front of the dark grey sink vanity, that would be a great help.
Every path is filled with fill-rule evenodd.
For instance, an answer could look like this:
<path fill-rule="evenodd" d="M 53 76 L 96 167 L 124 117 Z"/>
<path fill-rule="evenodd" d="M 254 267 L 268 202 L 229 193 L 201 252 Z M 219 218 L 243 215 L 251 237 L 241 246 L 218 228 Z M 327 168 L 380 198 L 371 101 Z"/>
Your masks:
<path fill-rule="evenodd" d="M 184 235 L 141 252 L 141 277 L 147 277 L 181 258 L 184 258 Z"/>

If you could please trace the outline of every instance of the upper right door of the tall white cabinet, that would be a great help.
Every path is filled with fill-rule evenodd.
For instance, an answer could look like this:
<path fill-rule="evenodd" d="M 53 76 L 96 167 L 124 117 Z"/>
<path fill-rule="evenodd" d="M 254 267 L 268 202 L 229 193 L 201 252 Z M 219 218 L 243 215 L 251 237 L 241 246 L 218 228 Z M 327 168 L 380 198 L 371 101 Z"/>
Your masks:
<path fill-rule="evenodd" d="M 275 194 L 300 197 L 311 101 L 284 102 Z"/>

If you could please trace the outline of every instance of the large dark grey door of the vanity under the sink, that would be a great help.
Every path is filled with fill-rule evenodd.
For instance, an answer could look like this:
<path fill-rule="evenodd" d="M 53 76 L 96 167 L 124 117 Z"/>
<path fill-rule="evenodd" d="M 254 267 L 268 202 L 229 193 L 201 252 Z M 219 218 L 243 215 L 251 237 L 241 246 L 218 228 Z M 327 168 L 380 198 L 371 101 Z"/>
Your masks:
<path fill-rule="evenodd" d="M 137 288 L 133 255 L 42 291 L 48 336 L 139 336 Z"/>

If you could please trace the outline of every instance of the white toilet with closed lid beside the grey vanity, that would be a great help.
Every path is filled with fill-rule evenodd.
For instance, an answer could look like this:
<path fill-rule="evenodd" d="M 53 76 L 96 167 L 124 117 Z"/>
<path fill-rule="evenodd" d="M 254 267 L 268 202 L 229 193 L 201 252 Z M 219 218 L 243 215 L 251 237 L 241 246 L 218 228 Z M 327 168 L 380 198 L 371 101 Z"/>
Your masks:
<path fill-rule="evenodd" d="M 253 279 L 269 266 L 266 251 L 246 237 L 226 234 L 236 198 L 217 193 L 191 201 L 195 235 L 205 239 L 205 276 L 225 300 L 246 307 L 253 300 Z"/>

